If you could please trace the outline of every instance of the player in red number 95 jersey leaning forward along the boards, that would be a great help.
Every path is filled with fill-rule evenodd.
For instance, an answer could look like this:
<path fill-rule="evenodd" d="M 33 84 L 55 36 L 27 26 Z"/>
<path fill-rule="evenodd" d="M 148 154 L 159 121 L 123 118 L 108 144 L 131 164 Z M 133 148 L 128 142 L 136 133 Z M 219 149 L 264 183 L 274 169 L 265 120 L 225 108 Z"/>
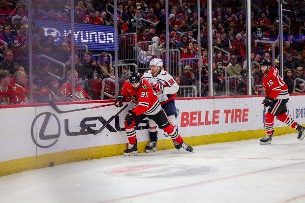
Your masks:
<path fill-rule="evenodd" d="M 116 99 L 116 107 L 121 107 L 125 99 L 130 96 L 136 107 L 128 110 L 124 125 L 126 129 L 129 147 L 124 150 L 124 156 L 137 155 L 137 140 L 134 126 L 138 125 L 145 117 L 154 120 L 159 128 L 163 129 L 183 149 L 192 152 L 193 148 L 183 142 L 178 131 L 170 123 L 165 112 L 161 108 L 157 96 L 154 94 L 150 83 L 141 79 L 139 72 L 132 72 L 129 80 L 126 80 L 121 94 Z"/>

